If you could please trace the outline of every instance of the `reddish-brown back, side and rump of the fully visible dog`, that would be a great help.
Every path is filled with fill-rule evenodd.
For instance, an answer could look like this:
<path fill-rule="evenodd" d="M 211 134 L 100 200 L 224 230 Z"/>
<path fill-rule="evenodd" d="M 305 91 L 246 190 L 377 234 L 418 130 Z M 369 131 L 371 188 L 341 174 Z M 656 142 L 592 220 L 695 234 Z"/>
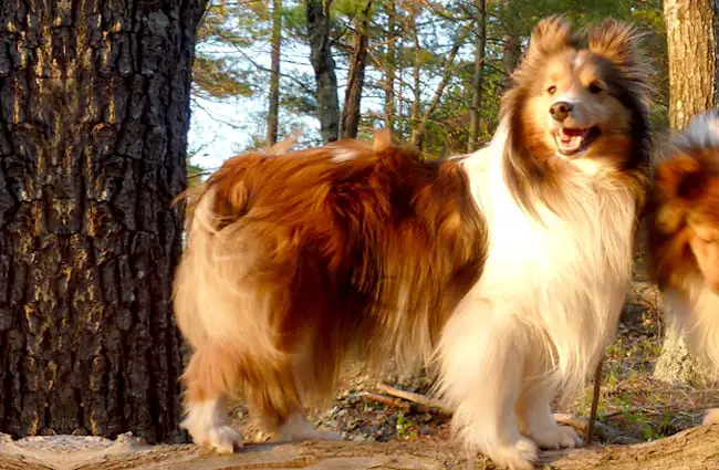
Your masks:
<path fill-rule="evenodd" d="M 241 384 L 270 428 L 322 404 L 348 353 L 419 365 L 483 262 L 457 164 L 389 143 L 235 157 L 199 191 L 175 282 L 188 399 Z"/>

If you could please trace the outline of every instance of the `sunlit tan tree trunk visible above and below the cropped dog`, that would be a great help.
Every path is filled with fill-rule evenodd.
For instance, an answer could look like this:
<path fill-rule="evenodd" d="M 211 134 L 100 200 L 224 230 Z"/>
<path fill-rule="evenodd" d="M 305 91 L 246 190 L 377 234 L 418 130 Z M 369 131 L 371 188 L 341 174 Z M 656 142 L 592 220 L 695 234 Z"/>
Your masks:
<path fill-rule="evenodd" d="M 717 106 L 717 3 L 665 0 L 669 52 L 669 124 L 686 126 L 698 113 Z M 706 370 L 687 352 L 681 334 L 667 325 L 655 377 L 669 383 L 706 382 Z"/>

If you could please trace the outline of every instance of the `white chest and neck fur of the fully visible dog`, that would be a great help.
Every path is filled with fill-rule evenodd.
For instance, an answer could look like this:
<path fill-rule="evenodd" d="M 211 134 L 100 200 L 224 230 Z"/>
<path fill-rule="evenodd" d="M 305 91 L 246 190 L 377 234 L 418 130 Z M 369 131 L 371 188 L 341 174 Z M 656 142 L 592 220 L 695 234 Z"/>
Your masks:
<path fill-rule="evenodd" d="M 634 195 L 577 171 L 565 181 L 562 215 L 540 206 L 539 221 L 507 188 L 498 145 L 466 164 L 490 233 L 487 263 L 468 301 L 491 305 L 491 315 L 515 315 L 549 352 L 536 372 L 549 367 L 575 393 L 616 331 L 632 267 Z"/>

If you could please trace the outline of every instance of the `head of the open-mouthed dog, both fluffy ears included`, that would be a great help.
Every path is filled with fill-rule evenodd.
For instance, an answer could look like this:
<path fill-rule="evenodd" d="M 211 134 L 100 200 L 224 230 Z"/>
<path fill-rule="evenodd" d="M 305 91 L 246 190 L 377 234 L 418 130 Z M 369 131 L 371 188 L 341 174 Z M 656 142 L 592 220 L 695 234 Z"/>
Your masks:
<path fill-rule="evenodd" d="M 539 165 L 594 171 L 645 163 L 631 161 L 644 159 L 636 149 L 646 134 L 648 74 L 638 42 L 632 27 L 611 20 L 580 32 L 560 18 L 534 28 L 503 105 Z"/>

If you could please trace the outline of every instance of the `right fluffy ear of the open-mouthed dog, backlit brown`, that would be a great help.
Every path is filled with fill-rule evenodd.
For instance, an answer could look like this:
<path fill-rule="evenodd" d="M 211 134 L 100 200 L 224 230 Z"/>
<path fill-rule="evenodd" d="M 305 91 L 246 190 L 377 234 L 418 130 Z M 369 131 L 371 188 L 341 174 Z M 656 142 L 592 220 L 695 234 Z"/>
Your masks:
<path fill-rule="evenodd" d="M 623 21 L 606 19 L 586 31 L 590 51 L 621 67 L 632 67 L 640 58 L 644 33 Z"/>

